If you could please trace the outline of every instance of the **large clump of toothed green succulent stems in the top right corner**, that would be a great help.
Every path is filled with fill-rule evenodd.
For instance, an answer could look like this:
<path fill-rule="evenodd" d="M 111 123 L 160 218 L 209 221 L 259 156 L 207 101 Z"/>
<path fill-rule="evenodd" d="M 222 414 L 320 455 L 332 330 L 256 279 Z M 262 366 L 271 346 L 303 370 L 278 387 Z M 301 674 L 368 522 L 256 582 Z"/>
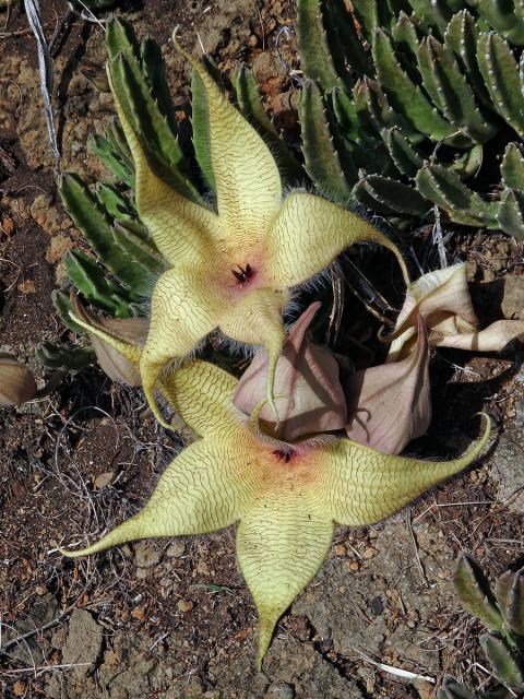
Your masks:
<path fill-rule="evenodd" d="M 352 4 L 298 2 L 302 150 L 315 186 L 397 224 L 437 206 L 524 238 L 521 4 Z"/>

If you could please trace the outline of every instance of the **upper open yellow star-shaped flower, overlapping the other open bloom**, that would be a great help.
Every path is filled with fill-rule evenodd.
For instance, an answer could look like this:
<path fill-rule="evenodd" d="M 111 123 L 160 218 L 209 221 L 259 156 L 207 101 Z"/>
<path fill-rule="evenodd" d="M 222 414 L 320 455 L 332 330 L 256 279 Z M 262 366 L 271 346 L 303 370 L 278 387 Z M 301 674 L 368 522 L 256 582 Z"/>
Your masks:
<path fill-rule="evenodd" d="M 154 389 L 162 369 L 184 357 L 212 330 L 269 353 L 266 396 L 273 401 L 275 365 L 284 342 L 282 310 L 288 289 L 331 264 L 354 242 L 396 247 L 360 216 L 324 199 L 295 191 L 283 199 L 275 159 L 204 68 L 175 44 L 200 76 L 209 112 L 209 146 L 216 211 L 181 196 L 159 176 L 141 134 L 126 117 L 120 81 L 109 79 L 135 166 L 136 209 L 169 269 L 156 283 L 140 371 L 160 422 Z M 119 86 L 117 90 L 116 86 Z M 122 93 L 123 90 L 123 93 Z M 165 424 L 165 423 L 164 423 Z"/>

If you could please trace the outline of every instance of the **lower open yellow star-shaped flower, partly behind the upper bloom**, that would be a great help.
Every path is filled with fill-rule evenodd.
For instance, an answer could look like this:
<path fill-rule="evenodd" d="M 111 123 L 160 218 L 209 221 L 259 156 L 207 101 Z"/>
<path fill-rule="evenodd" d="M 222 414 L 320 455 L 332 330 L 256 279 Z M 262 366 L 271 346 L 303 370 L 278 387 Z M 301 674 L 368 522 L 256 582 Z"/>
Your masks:
<path fill-rule="evenodd" d="M 139 360 L 138 347 L 90 330 Z M 489 438 L 485 418 L 480 440 L 449 462 L 383 454 L 346 438 L 290 445 L 260 431 L 261 405 L 250 418 L 235 407 L 237 380 L 214 365 L 194 360 L 163 377 L 159 389 L 200 439 L 167 466 L 141 512 L 96 544 L 63 553 L 86 556 L 238 523 L 238 560 L 259 612 L 259 666 L 278 617 L 322 565 L 334 522 L 358 526 L 389 517 L 467 466 Z"/>

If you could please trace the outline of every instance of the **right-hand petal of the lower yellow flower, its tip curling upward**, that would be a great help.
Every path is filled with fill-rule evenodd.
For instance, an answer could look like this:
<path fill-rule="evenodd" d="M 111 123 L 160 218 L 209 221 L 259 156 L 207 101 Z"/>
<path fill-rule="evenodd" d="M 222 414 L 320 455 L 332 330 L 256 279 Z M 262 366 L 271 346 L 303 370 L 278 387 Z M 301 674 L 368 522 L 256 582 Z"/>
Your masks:
<path fill-rule="evenodd" d="M 490 435 L 490 419 L 483 413 L 484 435 L 453 461 L 420 461 L 383 454 L 349 439 L 326 446 L 317 459 L 324 466 L 318 483 L 319 498 L 335 522 L 359 526 L 390 517 L 441 481 L 468 466 L 483 451 Z"/>

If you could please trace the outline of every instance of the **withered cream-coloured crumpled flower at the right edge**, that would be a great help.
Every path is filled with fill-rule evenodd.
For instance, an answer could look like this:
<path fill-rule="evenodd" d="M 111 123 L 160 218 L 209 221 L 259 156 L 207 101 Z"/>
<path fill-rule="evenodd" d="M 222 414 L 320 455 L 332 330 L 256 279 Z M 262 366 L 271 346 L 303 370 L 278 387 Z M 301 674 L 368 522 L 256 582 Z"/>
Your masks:
<path fill-rule="evenodd" d="M 428 327 L 429 344 L 476 352 L 499 352 L 524 333 L 523 320 L 499 320 L 479 330 L 467 286 L 466 264 L 424 274 L 407 289 L 391 342 L 388 362 L 407 357 L 417 342 L 417 317 Z"/>

